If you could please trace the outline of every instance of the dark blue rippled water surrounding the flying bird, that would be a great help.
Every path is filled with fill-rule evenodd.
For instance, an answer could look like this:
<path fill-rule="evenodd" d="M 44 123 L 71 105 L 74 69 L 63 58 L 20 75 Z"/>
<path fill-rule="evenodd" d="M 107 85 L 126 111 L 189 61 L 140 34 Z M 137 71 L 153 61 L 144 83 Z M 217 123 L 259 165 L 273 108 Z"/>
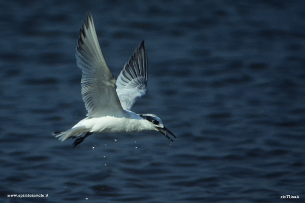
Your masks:
<path fill-rule="evenodd" d="M 0 201 L 304 201 L 304 8 L 2 1 Z M 161 117 L 174 144 L 156 131 L 93 134 L 76 148 L 51 136 L 86 114 L 75 47 L 87 12 L 114 76 L 145 40 L 148 94 L 133 111 Z"/>

